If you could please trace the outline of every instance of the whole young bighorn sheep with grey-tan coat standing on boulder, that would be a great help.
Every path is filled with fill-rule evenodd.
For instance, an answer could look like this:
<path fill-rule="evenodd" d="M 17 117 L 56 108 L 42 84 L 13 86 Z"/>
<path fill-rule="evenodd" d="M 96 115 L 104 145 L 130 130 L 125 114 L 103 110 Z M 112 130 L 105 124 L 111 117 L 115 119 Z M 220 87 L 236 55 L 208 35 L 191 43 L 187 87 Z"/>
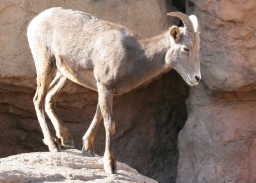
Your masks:
<path fill-rule="evenodd" d="M 34 104 L 44 143 L 51 152 L 59 152 L 60 144 L 47 125 L 46 113 L 61 144 L 74 147 L 72 136 L 54 106 L 69 80 L 99 93 L 97 111 L 83 136 L 82 152 L 94 155 L 95 131 L 103 117 L 106 129 L 103 161 L 108 173 L 116 173 L 112 150 L 113 95 L 129 92 L 172 68 L 189 85 L 198 84 L 201 77 L 198 20 L 195 15 L 188 17 L 180 12 L 168 15 L 178 17 L 184 27 L 172 26 L 162 35 L 146 39 L 123 26 L 63 8 L 45 10 L 30 22 L 27 35 L 37 74 Z"/>

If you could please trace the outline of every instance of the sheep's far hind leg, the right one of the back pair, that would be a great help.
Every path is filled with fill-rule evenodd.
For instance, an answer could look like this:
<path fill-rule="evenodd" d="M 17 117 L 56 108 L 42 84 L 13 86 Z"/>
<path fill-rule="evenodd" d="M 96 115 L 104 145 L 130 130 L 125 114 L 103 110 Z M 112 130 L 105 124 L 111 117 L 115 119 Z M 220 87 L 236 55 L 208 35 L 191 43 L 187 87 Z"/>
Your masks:
<path fill-rule="evenodd" d="M 51 119 L 51 122 L 56 131 L 56 136 L 61 139 L 61 145 L 64 147 L 74 148 L 72 135 L 68 131 L 67 127 L 65 127 L 65 125 L 63 125 L 61 122 L 60 117 L 56 113 L 55 106 L 57 97 L 70 83 L 71 82 L 67 79 L 67 77 L 57 72 L 54 80 L 51 83 L 50 90 L 46 96 L 45 111 Z"/>

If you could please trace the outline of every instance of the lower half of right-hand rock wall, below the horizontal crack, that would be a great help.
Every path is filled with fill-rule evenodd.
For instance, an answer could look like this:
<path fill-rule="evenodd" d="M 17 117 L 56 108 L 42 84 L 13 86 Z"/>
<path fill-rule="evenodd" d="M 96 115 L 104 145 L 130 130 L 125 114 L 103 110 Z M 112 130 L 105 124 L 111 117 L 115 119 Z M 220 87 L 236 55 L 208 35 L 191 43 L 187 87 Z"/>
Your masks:
<path fill-rule="evenodd" d="M 190 90 L 177 182 L 255 182 L 256 92 L 205 89 Z"/>

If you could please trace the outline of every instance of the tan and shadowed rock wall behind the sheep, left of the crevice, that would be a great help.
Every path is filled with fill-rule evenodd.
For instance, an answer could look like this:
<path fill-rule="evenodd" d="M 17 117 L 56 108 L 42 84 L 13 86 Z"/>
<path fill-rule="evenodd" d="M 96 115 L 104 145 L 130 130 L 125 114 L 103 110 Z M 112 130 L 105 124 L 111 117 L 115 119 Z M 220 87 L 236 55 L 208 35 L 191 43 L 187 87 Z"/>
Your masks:
<path fill-rule="evenodd" d="M 169 3 L 168 11 L 177 8 Z M 0 3 L 0 157 L 48 151 L 36 119 L 33 95 L 35 65 L 26 38 L 27 26 L 43 10 L 62 6 L 92 13 L 131 28 L 142 37 L 157 35 L 172 25 L 166 1 L 3 1 Z M 144 88 L 114 98 L 115 155 L 143 175 L 175 182 L 179 152 L 177 136 L 187 119 L 188 87 L 171 71 Z M 76 148 L 92 121 L 97 93 L 77 84 L 61 94 L 58 112 L 72 133 Z M 105 130 L 96 134 L 95 151 L 103 155 Z"/>

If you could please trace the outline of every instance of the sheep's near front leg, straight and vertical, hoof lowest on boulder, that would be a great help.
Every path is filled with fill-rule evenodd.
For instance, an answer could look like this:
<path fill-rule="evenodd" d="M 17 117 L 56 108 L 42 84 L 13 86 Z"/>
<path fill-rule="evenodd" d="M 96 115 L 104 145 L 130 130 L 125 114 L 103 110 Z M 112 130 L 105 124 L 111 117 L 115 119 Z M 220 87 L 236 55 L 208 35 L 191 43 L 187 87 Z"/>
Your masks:
<path fill-rule="evenodd" d="M 107 173 L 116 173 L 116 160 L 113 154 L 113 134 L 115 122 L 113 120 L 113 90 L 106 88 L 104 84 L 98 84 L 100 111 L 104 119 L 106 129 L 106 149 L 103 157 L 104 169 Z"/>

